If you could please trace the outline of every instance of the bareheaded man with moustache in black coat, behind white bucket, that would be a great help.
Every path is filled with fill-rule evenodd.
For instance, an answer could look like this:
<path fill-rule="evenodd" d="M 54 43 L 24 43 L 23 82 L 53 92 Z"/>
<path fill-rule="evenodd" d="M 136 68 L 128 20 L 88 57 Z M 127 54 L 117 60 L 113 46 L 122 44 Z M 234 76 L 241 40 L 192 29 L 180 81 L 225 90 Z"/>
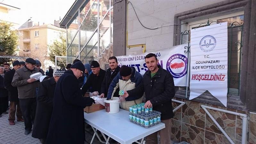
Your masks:
<path fill-rule="evenodd" d="M 107 69 L 105 78 L 101 84 L 101 98 L 107 97 L 108 88 L 113 79 L 117 76 L 118 72 L 120 71 L 120 67 L 118 66 L 116 57 L 109 57 L 108 63 L 110 68 Z M 119 97 L 119 88 L 114 93 L 114 97 Z"/>

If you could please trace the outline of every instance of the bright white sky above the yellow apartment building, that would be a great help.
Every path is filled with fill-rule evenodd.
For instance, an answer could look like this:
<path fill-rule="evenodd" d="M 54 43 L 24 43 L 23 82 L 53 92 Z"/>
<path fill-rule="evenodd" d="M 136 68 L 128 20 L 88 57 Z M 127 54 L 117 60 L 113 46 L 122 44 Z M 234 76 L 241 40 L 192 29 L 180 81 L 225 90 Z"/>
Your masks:
<path fill-rule="evenodd" d="M 9 11 L 14 22 L 20 25 L 30 17 L 34 23 L 53 24 L 54 20 L 63 18 L 75 0 L 0 0 L 0 3 L 9 4 L 20 10 Z"/>

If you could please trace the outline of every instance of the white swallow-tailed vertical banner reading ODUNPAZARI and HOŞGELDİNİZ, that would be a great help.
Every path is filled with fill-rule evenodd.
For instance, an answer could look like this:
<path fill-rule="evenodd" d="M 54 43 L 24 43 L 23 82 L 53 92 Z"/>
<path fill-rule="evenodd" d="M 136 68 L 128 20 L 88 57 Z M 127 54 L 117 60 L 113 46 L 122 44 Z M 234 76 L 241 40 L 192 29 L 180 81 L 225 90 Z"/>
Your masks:
<path fill-rule="evenodd" d="M 191 29 L 190 97 L 209 91 L 227 107 L 227 22 Z"/>

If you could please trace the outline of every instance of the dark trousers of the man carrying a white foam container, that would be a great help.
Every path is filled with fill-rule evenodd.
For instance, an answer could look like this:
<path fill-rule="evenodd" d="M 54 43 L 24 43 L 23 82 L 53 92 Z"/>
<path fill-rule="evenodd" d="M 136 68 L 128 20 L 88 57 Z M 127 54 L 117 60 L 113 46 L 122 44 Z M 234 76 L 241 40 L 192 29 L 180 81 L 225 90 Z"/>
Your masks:
<path fill-rule="evenodd" d="M 36 98 L 29 98 L 29 99 L 19 99 L 20 107 L 22 116 L 24 119 L 25 130 L 32 129 L 31 123 L 31 115 L 33 117 L 36 116 L 36 109 L 37 109 L 37 99 Z"/>

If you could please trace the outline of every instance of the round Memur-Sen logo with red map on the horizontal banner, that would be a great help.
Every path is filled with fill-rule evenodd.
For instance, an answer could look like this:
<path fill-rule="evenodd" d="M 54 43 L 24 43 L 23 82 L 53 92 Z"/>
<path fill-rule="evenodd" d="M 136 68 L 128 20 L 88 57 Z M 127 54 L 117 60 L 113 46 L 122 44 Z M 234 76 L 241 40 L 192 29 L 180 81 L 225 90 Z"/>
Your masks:
<path fill-rule="evenodd" d="M 166 63 L 166 70 L 174 78 L 181 78 L 187 74 L 187 57 L 183 54 L 172 55 Z"/>

